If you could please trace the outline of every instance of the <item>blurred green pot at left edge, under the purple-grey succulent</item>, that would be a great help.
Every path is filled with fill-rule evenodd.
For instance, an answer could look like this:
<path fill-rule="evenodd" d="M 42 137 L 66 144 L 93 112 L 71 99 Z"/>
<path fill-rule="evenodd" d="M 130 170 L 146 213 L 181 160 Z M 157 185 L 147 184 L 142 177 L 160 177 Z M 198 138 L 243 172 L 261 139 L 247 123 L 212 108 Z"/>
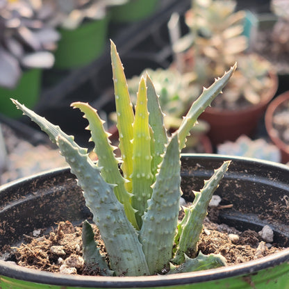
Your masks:
<path fill-rule="evenodd" d="M 22 112 L 15 109 L 10 101 L 13 97 L 22 101 L 28 108 L 33 108 L 40 97 L 42 69 L 29 69 L 22 73 L 16 88 L 0 87 L 0 113 L 8 117 L 21 117 Z"/>

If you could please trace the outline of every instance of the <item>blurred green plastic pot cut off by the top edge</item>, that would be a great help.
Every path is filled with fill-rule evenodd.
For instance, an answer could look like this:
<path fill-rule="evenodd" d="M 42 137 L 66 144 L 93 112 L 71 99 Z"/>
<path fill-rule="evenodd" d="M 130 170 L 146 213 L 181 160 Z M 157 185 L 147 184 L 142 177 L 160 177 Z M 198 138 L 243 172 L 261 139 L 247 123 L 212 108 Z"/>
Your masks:
<path fill-rule="evenodd" d="M 158 0 L 130 0 L 121 6 L 111 8 L 112 22 L 135 22 L 153 14 L 158 7 Z"/>

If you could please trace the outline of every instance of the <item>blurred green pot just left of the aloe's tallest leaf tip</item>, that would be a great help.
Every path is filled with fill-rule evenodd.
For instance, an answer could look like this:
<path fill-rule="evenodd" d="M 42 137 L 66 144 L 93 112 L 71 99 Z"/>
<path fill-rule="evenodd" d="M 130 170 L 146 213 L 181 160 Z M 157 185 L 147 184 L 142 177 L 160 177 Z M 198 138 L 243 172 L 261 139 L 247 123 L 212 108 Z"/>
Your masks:
<path fill-rule="evenodd" d="M 88 65 L 104 51 L 108 35 L 108 15 L 85 22 L 74 30 L 60 28 L 61 39 L 55 51 L 54 67 L 72 69 Z"/>

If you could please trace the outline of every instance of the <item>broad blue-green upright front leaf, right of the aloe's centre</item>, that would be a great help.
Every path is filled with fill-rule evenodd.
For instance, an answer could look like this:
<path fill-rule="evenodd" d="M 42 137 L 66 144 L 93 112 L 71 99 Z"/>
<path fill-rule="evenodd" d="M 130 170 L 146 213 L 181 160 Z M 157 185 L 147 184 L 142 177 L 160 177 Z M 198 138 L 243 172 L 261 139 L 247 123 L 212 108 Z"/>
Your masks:
<path fill-rule="evenodd" d="M 151 274 L 160 272 L 172 258 L 181 197 L 180 172 L 179 141 L 174 134 L 160 164 L 140 230 L 140 242 Z"/>

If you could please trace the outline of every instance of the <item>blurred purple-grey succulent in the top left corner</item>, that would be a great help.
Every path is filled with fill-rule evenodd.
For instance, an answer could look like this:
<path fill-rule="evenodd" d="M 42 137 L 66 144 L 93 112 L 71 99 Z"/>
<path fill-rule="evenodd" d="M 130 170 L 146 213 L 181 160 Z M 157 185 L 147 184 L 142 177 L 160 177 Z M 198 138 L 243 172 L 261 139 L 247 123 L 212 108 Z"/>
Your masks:
<path fill-rule="evenodd" d="M 35 0 L 0 1 L 0 86 L 14 88 L 22 69 L 49 68 L 59 39 L 49 11 Z"/>

